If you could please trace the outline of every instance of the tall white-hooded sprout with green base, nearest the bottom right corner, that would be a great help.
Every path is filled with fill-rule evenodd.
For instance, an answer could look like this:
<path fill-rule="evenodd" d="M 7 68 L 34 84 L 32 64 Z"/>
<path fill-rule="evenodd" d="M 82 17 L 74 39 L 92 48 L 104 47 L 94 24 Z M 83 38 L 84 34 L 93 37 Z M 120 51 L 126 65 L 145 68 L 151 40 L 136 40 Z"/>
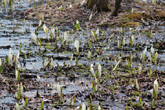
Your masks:
<path fill-rule="evenodd" d="M 152 98 L 157 99 L 158 98 L 158 81 L 157 79 L 154 81 L 154 88 L 150 90 Z"/>

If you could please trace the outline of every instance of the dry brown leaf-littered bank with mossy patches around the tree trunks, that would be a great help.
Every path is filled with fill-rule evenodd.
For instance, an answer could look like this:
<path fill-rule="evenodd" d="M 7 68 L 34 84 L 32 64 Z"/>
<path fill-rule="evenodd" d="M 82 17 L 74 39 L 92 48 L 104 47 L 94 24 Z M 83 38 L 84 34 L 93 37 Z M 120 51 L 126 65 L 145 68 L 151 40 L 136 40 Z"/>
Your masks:
<path fill-rule="evenodd" d="M 110 4 L 113 10 L 114 2 Z M 150 25 L 149 22 L 165 19 L 165 6 L 161 4 L 151 4 L 144 2 L 124 2 L 122 3 L 119 15 L 111 16 L 111 12 L 97 12 L 89 10 L 86 5 L 74 0 L 64 2 L 47 2 L 41 6 L 36 6 L 24 10 L 22 18 L 44 19 L 44 23 L 51 26 L 72 26 L 76 20 L 82 26 L 93 28 L 96 26 L 117 26 L 117 27 L 136 27 L 140 24 Z"/>

